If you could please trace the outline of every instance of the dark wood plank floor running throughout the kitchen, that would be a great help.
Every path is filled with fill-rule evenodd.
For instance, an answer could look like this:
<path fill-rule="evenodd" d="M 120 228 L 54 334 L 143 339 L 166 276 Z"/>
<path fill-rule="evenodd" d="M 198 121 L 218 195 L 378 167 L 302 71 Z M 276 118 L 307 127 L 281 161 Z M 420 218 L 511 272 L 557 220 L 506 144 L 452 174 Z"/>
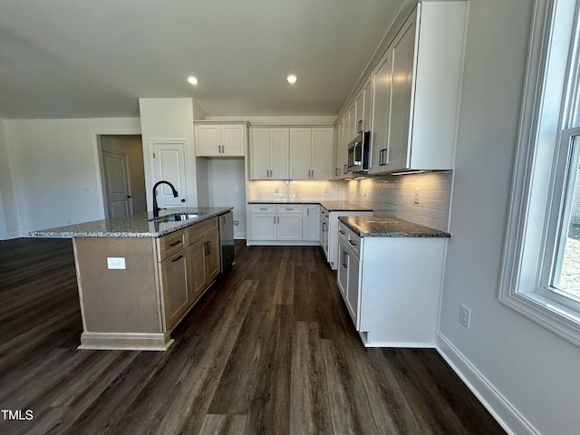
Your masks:
<path fill-rule="evenodd" d="M 71 241 L 0 241 L 0 433 L 505 433 L 436 351 L 365 349 L 320 248 L 236 251 L 168 352 L 88 351 Z"/>

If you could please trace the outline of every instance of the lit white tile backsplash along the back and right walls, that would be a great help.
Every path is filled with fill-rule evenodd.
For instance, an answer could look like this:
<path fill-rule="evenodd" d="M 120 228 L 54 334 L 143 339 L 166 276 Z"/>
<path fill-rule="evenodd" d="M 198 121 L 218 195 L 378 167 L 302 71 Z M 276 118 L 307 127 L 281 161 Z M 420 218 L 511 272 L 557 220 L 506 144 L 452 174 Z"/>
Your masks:
<path fill-rule="evenodd" d="M 253 201 L 345 200 L 372 208 L 378 216 L 396 216 L 447 231 L 452 181 L 452 171 L 349 181 L 254 180 L 247 183 L 247 198 Z"/>

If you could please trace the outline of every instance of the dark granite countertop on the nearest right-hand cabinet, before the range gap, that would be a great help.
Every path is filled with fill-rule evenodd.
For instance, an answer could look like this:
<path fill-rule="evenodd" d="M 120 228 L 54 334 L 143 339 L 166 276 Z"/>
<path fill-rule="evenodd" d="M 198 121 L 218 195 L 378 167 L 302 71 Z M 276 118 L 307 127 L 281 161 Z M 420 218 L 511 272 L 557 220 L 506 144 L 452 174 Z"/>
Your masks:
<path fill-rule="evenodd" d="M 360 237 L 451 237 L 440 231 L 410 220 L 382 216 L 348 216 L 338 218 Z"/>

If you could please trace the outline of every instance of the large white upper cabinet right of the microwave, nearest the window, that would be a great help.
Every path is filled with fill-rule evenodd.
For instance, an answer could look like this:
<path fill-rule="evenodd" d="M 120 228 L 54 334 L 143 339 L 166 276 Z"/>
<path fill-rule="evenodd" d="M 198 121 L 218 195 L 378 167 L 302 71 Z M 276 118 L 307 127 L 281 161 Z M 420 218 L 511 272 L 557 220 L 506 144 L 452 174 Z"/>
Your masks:
<path fill-rule="evenodd" d="M 467 2 L 422 2 L 372 73 L 370 173 L 453 169 Z"/>

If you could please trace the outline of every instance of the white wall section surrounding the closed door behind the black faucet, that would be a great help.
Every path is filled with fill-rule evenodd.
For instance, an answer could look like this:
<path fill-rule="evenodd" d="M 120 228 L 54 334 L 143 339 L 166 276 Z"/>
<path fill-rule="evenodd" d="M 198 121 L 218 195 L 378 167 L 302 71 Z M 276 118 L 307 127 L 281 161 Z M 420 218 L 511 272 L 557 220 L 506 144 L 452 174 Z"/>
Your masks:
<path fill-rule="evenodd" d="M 190 98 L 140 98 L 140 125 L 145 160 L 147 207 L 153 208 L 150 192 L 154 184 L 151 140 L 184 139 L 187 141 L 186 170 L 188 177 L 188 206 L 198 206 L 196 189 L 197 169 L 193 134 L 193 100 Z"/>

